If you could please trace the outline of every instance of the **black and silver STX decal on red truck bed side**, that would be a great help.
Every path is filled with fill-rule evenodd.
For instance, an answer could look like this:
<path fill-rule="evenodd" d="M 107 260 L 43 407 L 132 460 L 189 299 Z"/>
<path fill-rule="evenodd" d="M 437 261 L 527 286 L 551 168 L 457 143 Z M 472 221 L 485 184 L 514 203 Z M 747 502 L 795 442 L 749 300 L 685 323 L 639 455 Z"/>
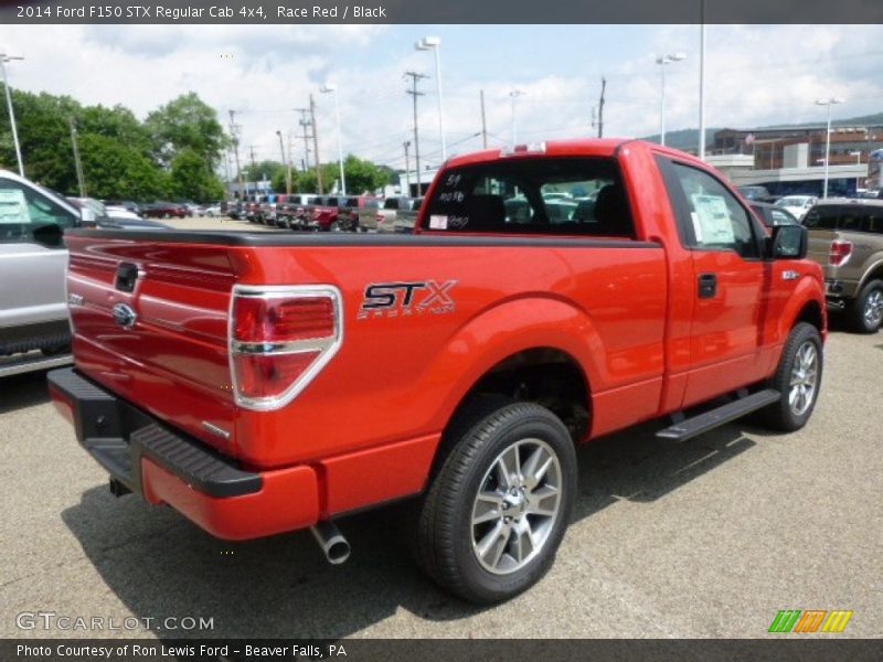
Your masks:
<path fill-rule="evenodd" d="M 365 286 L 357 319 L 444 314 L 456 309 L 450 290 L 456 280 L 372 282 Z"/>

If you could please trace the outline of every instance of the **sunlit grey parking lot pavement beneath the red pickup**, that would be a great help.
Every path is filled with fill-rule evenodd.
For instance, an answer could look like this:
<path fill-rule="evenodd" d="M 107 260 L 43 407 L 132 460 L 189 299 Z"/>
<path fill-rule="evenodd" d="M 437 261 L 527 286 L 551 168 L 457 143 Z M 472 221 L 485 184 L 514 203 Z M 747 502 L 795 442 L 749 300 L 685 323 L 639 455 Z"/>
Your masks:
<path fill-rule="evenodd" d="M 17 627 L 21 612 L 53 611 L 118 626 L 213 618 L 192 632 L 153 621 L 159 637 L 756 638 L 779 609 L 853 610 L 840 636 L 880 637 L 881 374 L 883 335 L 834 332 L 821 399 L 797 434 L 736 423 L 679 444 L 645 425 L 586 447 L 555 565 L 493 608 L 424 579 L 390 535 L 395 511 L 342 521 L 353 554 L 329 566 L 306 532 L 223 543 L 168 509 L 115 499 L 44 376 L 12 377 L 0 385 L 0 637 L 95 634 Z"/>

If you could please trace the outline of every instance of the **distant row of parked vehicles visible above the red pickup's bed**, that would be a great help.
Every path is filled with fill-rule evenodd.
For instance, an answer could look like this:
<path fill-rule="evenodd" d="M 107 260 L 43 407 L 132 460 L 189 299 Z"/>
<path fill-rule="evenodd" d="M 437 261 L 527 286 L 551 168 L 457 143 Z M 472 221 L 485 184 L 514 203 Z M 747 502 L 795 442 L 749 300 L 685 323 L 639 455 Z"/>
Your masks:
<path fill-rule="evenodd" d="M 422 202 L 423 197 L 290 193 L 247 195 L 223 210 L 232 218 L 294 231 L 409 233 Z"/>

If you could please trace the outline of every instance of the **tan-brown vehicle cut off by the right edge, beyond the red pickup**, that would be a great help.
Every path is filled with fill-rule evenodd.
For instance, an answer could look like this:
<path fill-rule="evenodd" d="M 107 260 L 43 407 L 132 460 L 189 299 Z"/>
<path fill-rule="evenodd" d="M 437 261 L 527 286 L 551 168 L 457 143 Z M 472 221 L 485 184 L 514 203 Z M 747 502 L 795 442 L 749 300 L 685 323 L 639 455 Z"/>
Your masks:
<path fill-rule="evenodd" d="M 829 199 L 807 215 L 809 256 L 825 268 L 828 308 L 860 333 L 883 323 L 883 200 Z"/>

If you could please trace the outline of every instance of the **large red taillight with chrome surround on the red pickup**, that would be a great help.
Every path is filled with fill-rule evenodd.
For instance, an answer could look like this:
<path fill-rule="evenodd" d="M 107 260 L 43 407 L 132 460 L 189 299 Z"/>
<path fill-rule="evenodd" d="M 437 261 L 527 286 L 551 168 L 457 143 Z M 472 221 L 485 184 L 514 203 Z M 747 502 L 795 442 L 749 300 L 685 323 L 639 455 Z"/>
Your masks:
<path fill-rule="evenodd" d="M 341 296 L 332 286 L 236 286 L 230 364 L 236 403 L 276 409 L 326 366 L 343 340 Z"/>

